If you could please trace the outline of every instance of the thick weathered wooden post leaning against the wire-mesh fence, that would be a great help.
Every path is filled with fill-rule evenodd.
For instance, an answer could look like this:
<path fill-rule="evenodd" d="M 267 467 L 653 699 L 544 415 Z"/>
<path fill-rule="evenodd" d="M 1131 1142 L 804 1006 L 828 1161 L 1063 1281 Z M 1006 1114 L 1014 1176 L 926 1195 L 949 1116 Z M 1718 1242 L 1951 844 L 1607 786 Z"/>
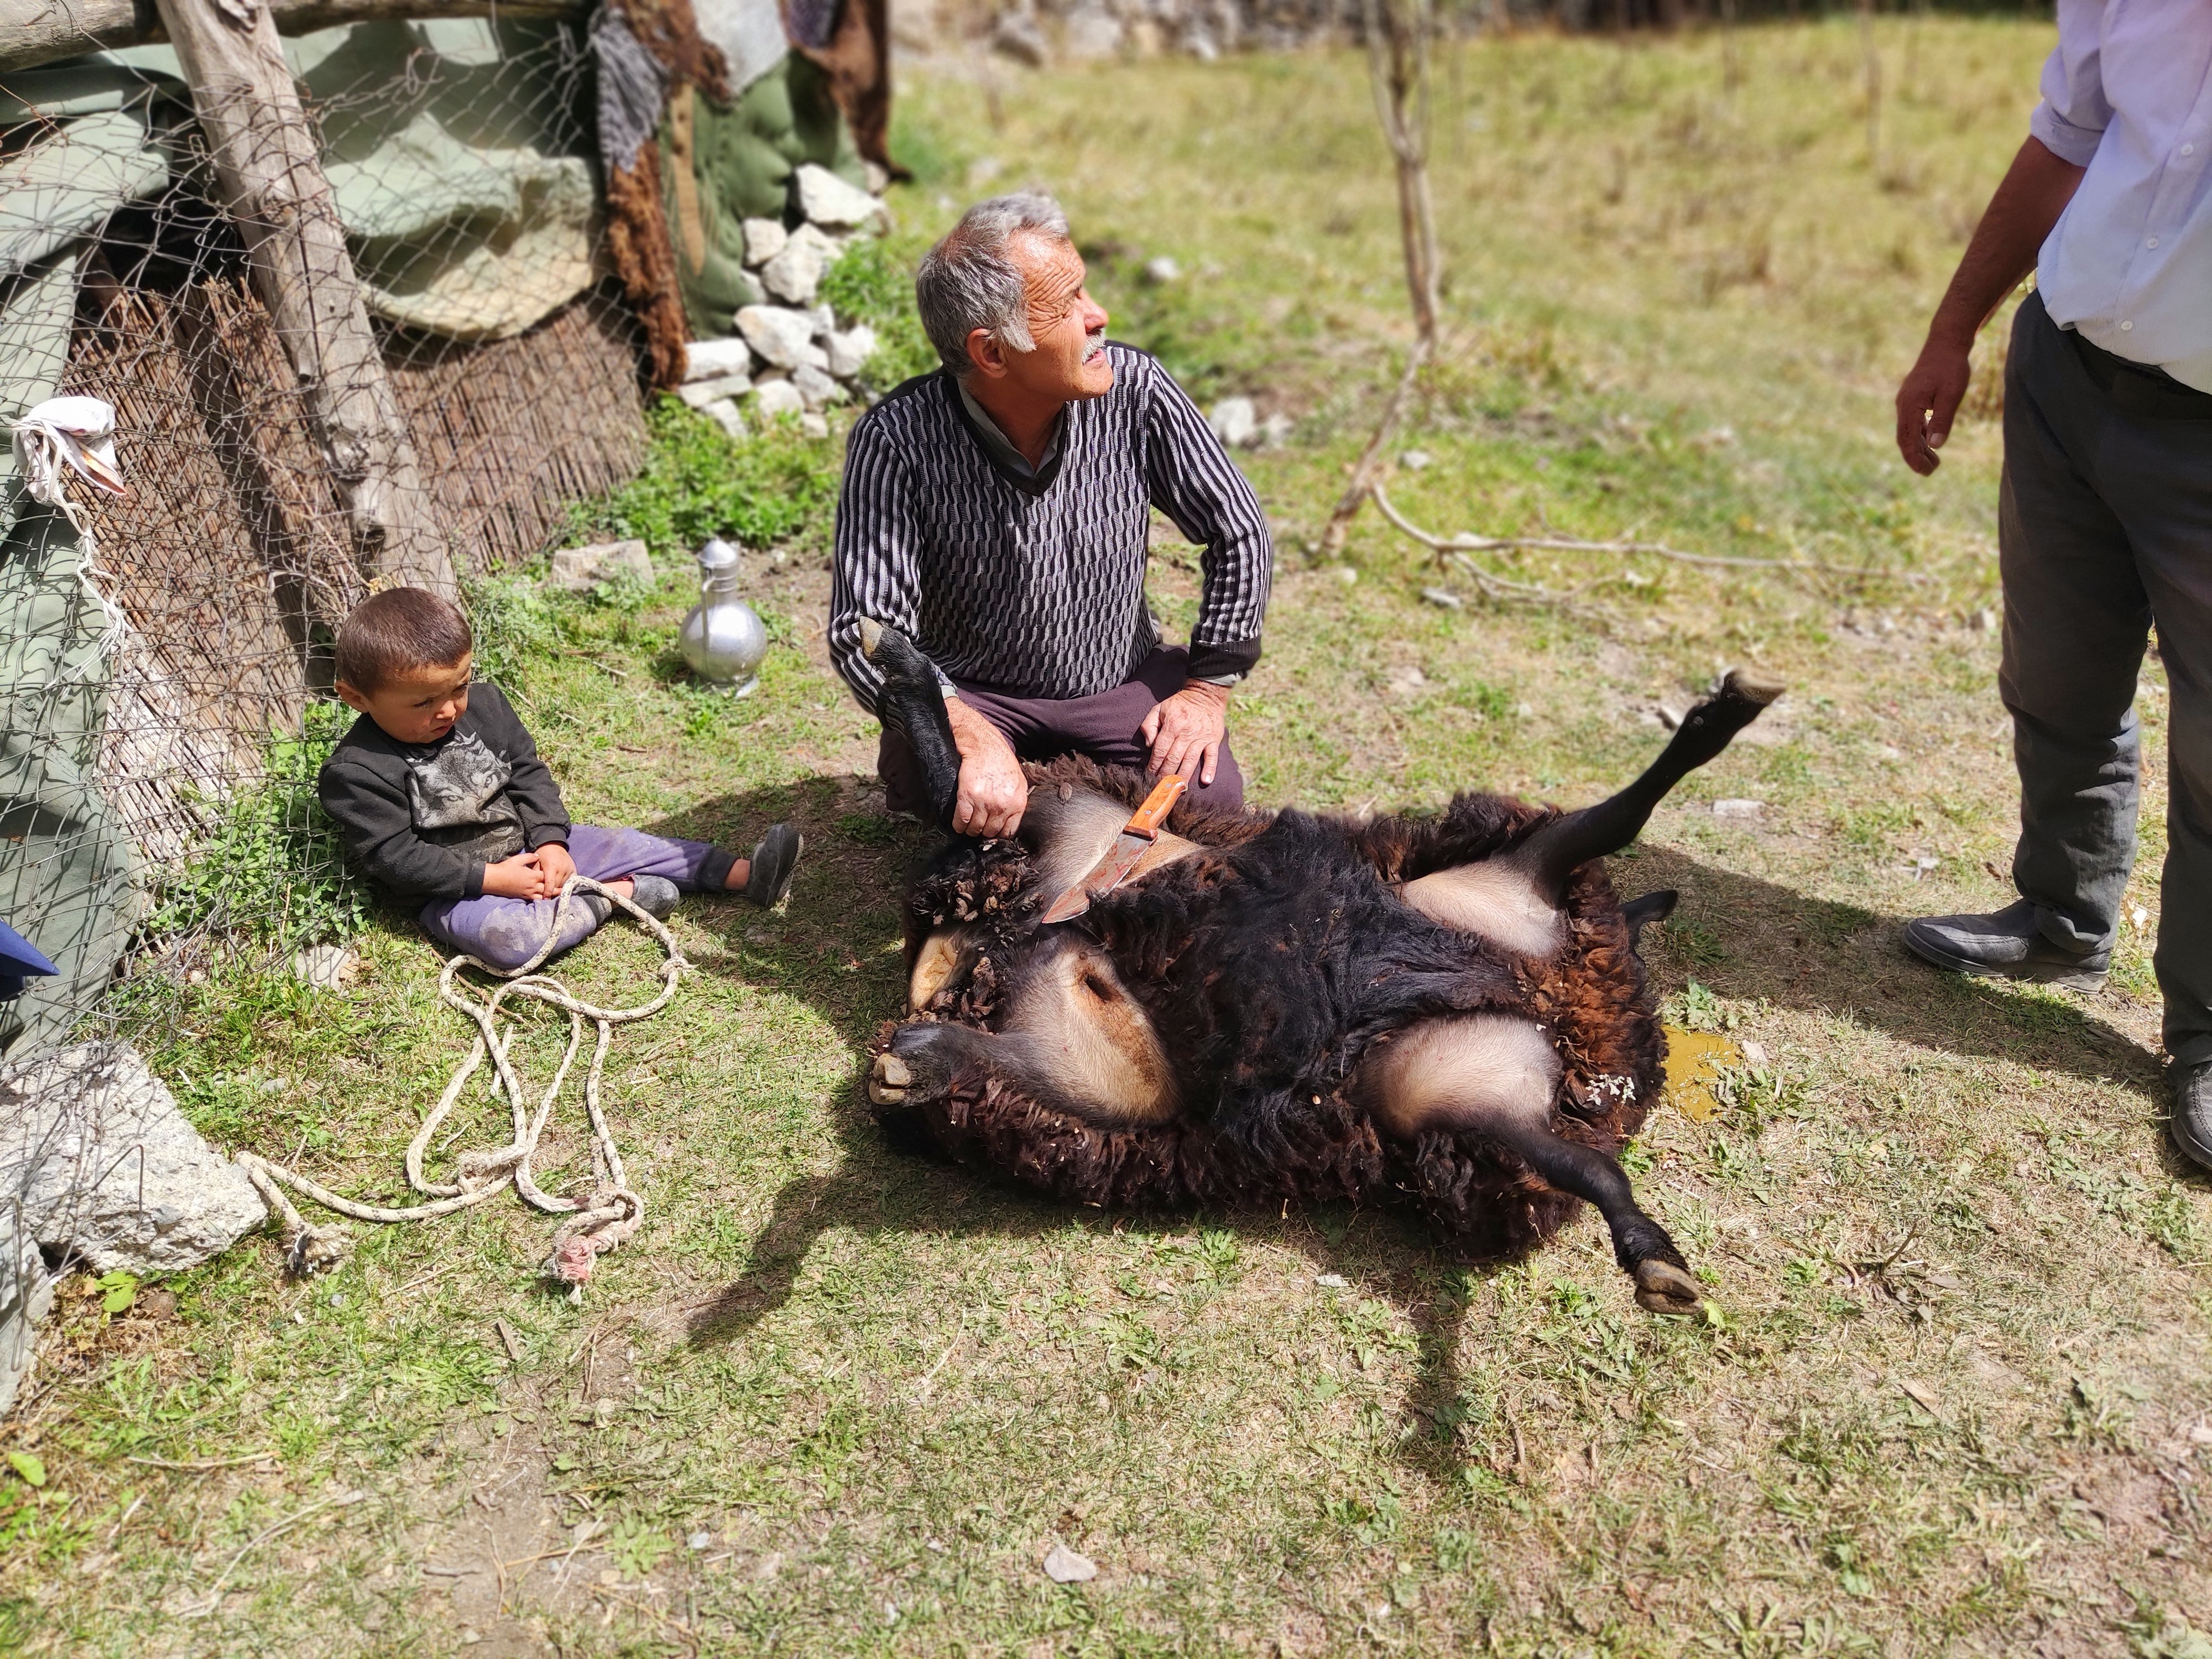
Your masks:
<path fill-rule="evenodd" d="M 155 0 L 246 239 L 254 292 L 299 376 L 363 575 L 460 597 L 453 557 L 369 330 L 314 126 L 263 0 Z"/>

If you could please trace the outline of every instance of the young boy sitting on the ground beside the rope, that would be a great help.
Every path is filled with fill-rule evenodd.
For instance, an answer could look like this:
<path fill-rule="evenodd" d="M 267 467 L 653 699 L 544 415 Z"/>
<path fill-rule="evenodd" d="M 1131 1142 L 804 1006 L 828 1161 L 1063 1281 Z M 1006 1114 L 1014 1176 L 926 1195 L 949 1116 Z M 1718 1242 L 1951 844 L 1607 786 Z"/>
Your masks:
<path fill-rule="evenodd" d="M 338 630 L 338 697 L 361 710 L 316 779 L 354 860 L 407 898 L 429 900 L 422 929 L 447 951 L 500 969 L 538 956 L 571 874 L 668 916 L 679 891 L 728 889 L 774 905 L 803 847 L 770 825 L 750 858 L 701 841 L 568 823 L 560 785 L 498 686 L 469 684 L 476 641 L 460 611 L 422 588 L 365 599 Z M 575 894 L 555 951 L 615 914 Z"/>

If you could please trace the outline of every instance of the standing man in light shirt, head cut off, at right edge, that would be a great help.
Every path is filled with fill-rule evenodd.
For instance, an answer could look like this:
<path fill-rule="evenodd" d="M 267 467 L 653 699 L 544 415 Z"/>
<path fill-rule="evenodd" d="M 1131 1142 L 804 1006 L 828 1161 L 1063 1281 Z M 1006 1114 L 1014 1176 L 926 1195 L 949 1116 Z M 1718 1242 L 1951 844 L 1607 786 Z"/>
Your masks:
<path fill-rule="evenodd" d="M 1922 916 L 1938 967 L 2095 987 L 2135 863 L 2137 672 L 2172 686 L 2159 989 L 2174 1148 L 2212 1168 L 2212 7 L 2059 0 L 2031 137 L 1898 389 L 1936 471 L 1975 330 L 2026 272 L 2004 367 L 2004 668 L 2020 902 Z"/>

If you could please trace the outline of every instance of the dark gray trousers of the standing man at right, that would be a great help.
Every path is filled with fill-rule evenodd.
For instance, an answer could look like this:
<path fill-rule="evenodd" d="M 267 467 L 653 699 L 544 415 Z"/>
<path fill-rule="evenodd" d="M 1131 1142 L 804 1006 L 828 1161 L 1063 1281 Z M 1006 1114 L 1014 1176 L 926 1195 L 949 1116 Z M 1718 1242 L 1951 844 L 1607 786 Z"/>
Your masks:
<path fill-rule="evenodd" d="M 2152 622 L 2172 688 L 2159 989 L 2166 1048 L 2212 1060 L 2212 398 L 2059 330 L 2028 294 L 2004 369 L 2004 670 L 2013 880 L 2068 951 L 2106 949 L 2135 863 L 2135 686 Z"/>

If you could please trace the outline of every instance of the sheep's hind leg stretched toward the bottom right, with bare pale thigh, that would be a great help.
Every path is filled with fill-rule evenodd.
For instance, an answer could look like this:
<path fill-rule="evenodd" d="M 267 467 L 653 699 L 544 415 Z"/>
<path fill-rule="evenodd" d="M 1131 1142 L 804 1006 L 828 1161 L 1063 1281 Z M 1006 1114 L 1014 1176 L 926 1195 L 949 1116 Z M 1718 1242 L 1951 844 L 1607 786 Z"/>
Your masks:
<path fill-rule="evenodd" d="M 1613 1259 L 1637 1281 L 1637 1303 L 1655 1314 L 1697 1310 L 1688 1263 L 1637 1206 L 1621 1166 L 1551 1133 L 1559 1055 L 1533 1020 L 1471 1013 L 1425 1020 L 1371 1051 L 1356 1091 L 1391 1135 L 1475 1135 L 1513 1152 L 1559 1192 L 1597 1206 L 1613 1232 Z"/>

